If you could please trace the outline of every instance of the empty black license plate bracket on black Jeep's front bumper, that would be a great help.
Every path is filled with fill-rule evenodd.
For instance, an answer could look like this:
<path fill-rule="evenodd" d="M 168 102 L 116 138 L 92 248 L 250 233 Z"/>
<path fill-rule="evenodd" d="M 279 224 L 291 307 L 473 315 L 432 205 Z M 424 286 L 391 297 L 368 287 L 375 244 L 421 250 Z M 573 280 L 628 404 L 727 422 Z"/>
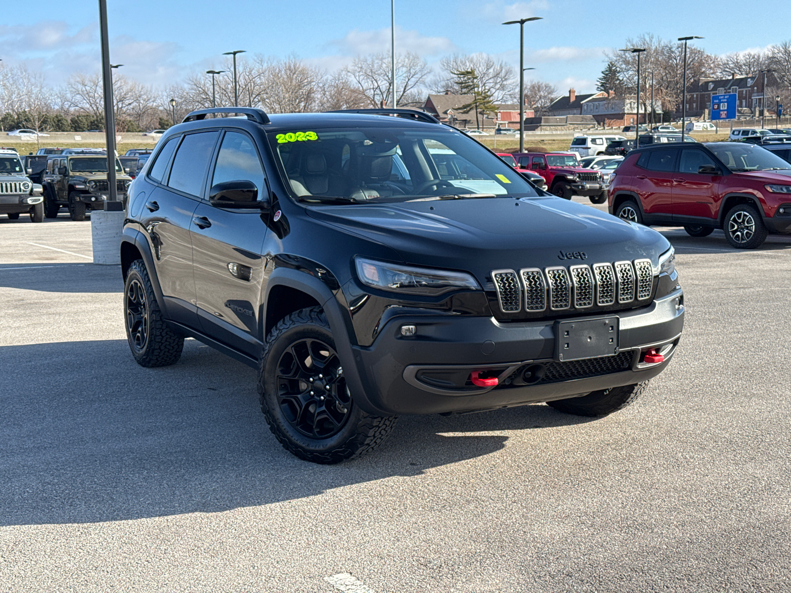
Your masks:
<path fill-rule="evenodd" d="M 554 322 L 554 359 L 559 362 L 619 353 L 618 315 Z"/>

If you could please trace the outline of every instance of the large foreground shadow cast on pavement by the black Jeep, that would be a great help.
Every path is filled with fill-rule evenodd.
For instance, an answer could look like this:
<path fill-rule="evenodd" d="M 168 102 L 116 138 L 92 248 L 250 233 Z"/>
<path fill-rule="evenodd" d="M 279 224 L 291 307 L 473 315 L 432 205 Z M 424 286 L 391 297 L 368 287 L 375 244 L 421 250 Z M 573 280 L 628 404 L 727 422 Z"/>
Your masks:
<path fill-rule="evenodd" d="M 222 512 L 413 476 L 488 455 L 507 435 L 587 419 L 526 406 L 403 417 L 379 449 L 335 466 L 282 449 L 255 371 L 187 340 L 179 363 L 142 368 L 125 340 L 0 348 L 0 525 L 97 523 Z"/>

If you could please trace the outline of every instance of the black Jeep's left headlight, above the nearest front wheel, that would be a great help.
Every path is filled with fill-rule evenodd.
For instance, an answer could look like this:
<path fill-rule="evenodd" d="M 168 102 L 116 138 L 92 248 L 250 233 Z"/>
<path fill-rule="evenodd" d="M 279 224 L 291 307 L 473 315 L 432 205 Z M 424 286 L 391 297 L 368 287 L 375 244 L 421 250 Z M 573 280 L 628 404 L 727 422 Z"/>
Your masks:
<path fill-rule="evenodd" d="M 360 281 L 375 289 L 428 296 L 449 293 L 452 290 L 480 290 L 475 278 L 464 272 L 399 266 L 363 258 L 356 259 L 355 265 Z"/>

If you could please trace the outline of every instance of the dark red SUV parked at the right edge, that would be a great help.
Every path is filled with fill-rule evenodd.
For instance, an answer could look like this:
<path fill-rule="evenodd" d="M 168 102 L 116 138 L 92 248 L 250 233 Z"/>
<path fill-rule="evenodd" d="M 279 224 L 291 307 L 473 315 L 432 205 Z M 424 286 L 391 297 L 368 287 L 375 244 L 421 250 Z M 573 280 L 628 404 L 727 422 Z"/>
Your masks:
<path fill-rule="evenodd" d="M 733 247 L 755 249 L 770 232 L 791 232 L 791 164 L 740 142 L 647 146 L 612 174 L 609 210 L 691 236 L 722 229 Z"/>

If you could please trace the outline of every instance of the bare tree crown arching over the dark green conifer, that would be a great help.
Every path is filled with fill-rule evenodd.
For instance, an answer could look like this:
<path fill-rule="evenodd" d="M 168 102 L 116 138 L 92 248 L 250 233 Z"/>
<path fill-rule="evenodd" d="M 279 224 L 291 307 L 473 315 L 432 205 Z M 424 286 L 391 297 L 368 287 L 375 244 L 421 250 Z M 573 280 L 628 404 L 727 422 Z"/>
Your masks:
<path fill-rule="evenodd" d="M 436 93 L 452 90 L 460 93 L 454 72 L 475 70 L 481 89 L 491 94 L 494 103 L 517 101 L 519 89 L 511 66 L 502 60 L 496 60 L 488 54 L 454 54 L 440 61 L 441 73 L 431 82 Z"/>

